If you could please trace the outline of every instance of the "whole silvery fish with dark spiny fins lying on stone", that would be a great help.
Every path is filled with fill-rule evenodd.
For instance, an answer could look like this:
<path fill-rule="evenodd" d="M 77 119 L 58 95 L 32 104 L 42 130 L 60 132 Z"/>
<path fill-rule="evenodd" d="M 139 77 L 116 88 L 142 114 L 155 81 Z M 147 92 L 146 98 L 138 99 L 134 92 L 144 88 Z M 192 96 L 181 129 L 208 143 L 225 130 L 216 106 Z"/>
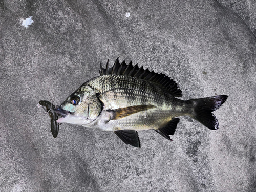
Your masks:
<path fill-rule="evenodd" d="M 163 73 L 127 65 L 117 58 L 113 67 L 100 63 L 100 76 L 83 83 L 55 110 L 58 123 L 113 131 L 125 144 L 140 147 L 137 131 L 155 130 L 172 140 L 180 116 L 190 116 L 210 130 L 219 128 L 212 114 L 228 98 L 217 95 L 181 100 L 178 84 Z"/>

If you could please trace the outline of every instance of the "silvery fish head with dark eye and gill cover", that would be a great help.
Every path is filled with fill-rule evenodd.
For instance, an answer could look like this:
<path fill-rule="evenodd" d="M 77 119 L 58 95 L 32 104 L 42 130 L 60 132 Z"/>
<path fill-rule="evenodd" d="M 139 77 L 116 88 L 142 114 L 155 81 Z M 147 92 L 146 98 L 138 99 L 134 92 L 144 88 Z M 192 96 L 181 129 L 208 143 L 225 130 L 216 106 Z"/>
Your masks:
<path fill-rule="evenodd" d="M 61 103 L 55 113 L 62 116 L 58 123 L 86 125 L 100 114 L 102 104 L 96 93 L 87 86 L 81 86 Z"/>

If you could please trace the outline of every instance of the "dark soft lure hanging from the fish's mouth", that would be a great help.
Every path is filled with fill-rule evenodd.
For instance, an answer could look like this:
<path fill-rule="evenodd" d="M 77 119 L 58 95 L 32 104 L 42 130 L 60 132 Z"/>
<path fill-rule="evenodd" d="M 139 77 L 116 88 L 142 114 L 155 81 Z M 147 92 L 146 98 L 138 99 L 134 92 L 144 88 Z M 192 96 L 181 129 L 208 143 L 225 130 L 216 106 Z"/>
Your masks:
<path fill-rule="evenodd" d="M 59 132 L 59 123 L 57 123 L 58 114 L 55 113 L 55 106 L 50 101 L 41 100 L 39 104 L 46 107 L 46 111 L 51 117 L 51 132 L 54 138 L 57 137 Z"/>

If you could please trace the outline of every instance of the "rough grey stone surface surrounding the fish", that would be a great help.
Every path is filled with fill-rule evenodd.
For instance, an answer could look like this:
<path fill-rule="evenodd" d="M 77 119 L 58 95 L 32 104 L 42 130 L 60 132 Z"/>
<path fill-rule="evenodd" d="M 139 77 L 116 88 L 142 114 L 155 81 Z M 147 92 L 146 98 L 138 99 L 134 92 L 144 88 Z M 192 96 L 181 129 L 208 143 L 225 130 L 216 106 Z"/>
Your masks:
<path fill-rule="evenodd" d="M 234 11 L 214 0 L 1 1 L 0 22 L 0 191 L 256 190 L 256 38 Z M 54 139 L 37 102 L 51 90 L 60 104 L 116 57 L 173 77 L 183 99 L 229 95 L 220 129 L 181 117 L 173 142 L 143 131 L 133 148 L 62 124 Z"/>

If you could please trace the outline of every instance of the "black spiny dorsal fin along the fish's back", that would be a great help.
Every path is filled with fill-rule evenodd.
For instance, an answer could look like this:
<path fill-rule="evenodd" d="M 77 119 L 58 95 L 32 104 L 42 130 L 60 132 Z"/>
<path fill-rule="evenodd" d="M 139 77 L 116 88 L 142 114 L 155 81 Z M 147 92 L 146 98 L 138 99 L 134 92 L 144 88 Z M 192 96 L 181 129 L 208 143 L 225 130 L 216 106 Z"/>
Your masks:
<path fill-rule="evenodd" d="M 182 93 L 179 89 L 177 83 L 170 79 L 168 76 L 160 73 L 155 73 L 154 71 L 150 71 L 148 69 L 144 70 L 143 66 L 141 68 L 138 67 L 138 64 L 135 66 L 132 65 L 132 61 L 127 65 L 125 61 L 121 64 L 119 63 L 118 58 L 116 59 L 114 66 L 109 68 L 109 60 L 106 63 L 106 68 L 102 68 L 102 64 L 100 63 L 100 75 L 124 75 L 124 76 L 131 76 L 137 77 L 140 79 L 145 79 L 151 82 L 155 82 L 159 84 L 161 87 L 165 88 L 170 94 L 175 97 L 181 97 Z"/>

